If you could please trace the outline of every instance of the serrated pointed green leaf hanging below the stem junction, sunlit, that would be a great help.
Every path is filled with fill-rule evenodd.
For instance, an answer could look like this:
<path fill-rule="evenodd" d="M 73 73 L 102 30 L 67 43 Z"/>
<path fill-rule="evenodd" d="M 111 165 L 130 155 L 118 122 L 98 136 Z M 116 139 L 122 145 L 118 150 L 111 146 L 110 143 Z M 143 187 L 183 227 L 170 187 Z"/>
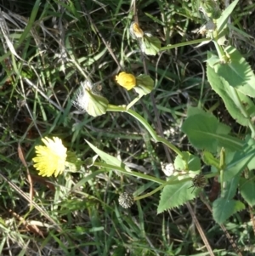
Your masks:
<path fill-rule="evenodd" d="M 191 185 L 192 184 L 187 181 L 180 181 L 175 185 L 166 185 L 161 192 L 161 200 L 157 208 L 157 213 L 178 207 L 194 199 L 195 193 L 188 191 Z"/>

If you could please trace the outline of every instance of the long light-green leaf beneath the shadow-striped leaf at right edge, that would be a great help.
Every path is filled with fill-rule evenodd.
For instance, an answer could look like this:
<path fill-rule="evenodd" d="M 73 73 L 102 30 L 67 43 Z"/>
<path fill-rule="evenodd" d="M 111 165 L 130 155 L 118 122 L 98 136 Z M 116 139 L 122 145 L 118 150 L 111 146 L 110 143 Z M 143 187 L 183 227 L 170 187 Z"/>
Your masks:
<path fill-rule="evenodd" d="M 233 88 L 229 86 L 229 82 L 220 77 L 209 65 L 207 65 L 207 78 L 212 89 L 222 98 L 222 100 L 224 100 L 226 109 L 229 111 L 231 117 L 241 125 L 248 126 L 249 120 L 241 112 L 240 101 L 242 108 L 244 108 L 247 114 L 252 117 L 255 115 L 255 105 L 252 100 L 238 91 L 236 91 L 236 94 L 240 101 L 238 99 L 235 100 L 235 92 L 233 91 Z"/>

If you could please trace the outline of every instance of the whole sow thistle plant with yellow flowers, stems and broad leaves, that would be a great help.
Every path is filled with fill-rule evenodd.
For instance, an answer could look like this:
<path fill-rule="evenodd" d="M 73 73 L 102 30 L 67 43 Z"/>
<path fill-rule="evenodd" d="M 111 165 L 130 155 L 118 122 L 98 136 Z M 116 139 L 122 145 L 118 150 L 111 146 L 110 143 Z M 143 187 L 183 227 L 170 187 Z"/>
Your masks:
<path fill-rule="evenodd" d="M 227 21 L 229 14 L 233 11 L 238 0 L 235 0 L 220 15 L 214 14 L 213 8 L 217 3 L 207 1 L 203 7 L 207 14 L 207 21 L 212 22 L 212 31 L 207 37 L 192 43 L 214 43 L 216 51 L 208 51 L 207 54 L 207 79 L 212 89 L 224 100 L 224 104 L 229 114 L 243 126 L 250 129 L 251 134 L 244 134 L 243 138 L 236 138 L 231 132 L 231 128 L 218 121 L 212 113 L 204 111 L 199 107 L 188 107 L 187 118 L 184 120 L 181 130 L 187 135 L 190 144 L 193 145 L 201 156 L 191 154 L 189 151 L 180 151 L 167 139 L 156 134 L 154 128 L 141 117 L 136 111 L 131 109 L 142 96 L 150 94 L 154 88 L 153 79 L 146 75 L 140 74 L 135 76 L 132 72 L 122 71 L 116 75 L 116 83 L 126 88 L 128 91 L 133 89 L 139 96 L 128 103 L 128 105 L 111 105 L 103 97 L 91 82 L 82 82 L 74 105 L 88 115 L 97 117 L 104 115 L 107 111 L 122 112 L 135 118 L 150 134 L 150 139 L 155 143 L 162 143 L 170 148 L 176 157 L 173 162 L 175 171 L 166 179 L 158 179 L 148 174 L 141 174 L 131 168 L 128 168 L 124 162 L 99 150 L 96 146 L 86 140 L 91 149 L 95 152 L 101 161 L 93 161 L 91 164 L 99 168 L 102 172 L 105 170 L 116 170 L 125 175 L 132 175 L 139 179 L 153 181 L 157 187 L 146 194 L 133 194 L 123 192 L 119 198 L 120 204 L 124 208 L 129 208 L 134 202 L 147 196 L 151 196 L 161 191 L 160 202 L 157 213 L 171 208 L 183 205 L 198 196 L 207 185 L 207 179 L 218 176 L 221 191 L 218 199 L 212 202 L 212 216 L 219 224 L 224 223 L 234 213 L 241 211 L 245 205 L 240 200 L 234 199 L 236 190 L 239 189 L 241 196 L 252 207 L 255 205 L 254 196 L 250 191 L 255 190 L 254 174 L 252 169 L 255 168 L 255 128 L 252 117 L 255 117 L 255 105 L 250 97 L 255 98 L 255 75 L 233 46 L 224 46 L 219 44 L 220 37 L 226 35 L 226 28 L 229 26 Z M 220 9 L 219 9 L 220 10 Z M 217 9 L 218 12 L 218 9 Z M 237 29 L 236 29 L 237 30 Z M 138 23 L 132 23 L 130 31 L 133 37 L 139 41 L 140 47 L 144 49 L 144 54 L 156 54 L 159 50 L 167 50 L 184 46 L 185 43 L 178 45 L 168 45 L 160 48 L 158 39 L 150 37 L 144 32 Z M 157 42 L 157 43 L 156 43 Z M 228 60 L 224 61 L 223 60 Z M 35 168 L 39 174 L 50 176 L 62 174 L 68 162 L 68 151 L 60 144 L 58 139 L 53 142 L 48 139 L 42 140 L 45 147 L 37 147 L 37 156 L 34 158 Z M 56 145 L 56 146 L 54 146 Z M 56 148 L 60 150 L 56 150 Z M 48 159 L 54 164 L 49 165 Z M 201 169 L 201 160 L 204 165 L 210 166 L 210 173 L 203 174 Z M 245 177 L 242 173 L 248 169 Z M 194 191 L 189 191 L 190 187 Z M 139 190 L 138 190 L 139 191 Z M 137 192 L 139 193 L 139 192 Z"/>

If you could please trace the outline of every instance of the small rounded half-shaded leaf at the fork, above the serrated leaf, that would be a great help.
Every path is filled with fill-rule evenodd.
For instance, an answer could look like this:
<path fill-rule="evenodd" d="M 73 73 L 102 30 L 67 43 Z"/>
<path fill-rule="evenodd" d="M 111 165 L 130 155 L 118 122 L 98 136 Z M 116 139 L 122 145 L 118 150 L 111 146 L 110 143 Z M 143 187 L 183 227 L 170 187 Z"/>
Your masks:
<path fill-rule="evenodd" d="M 177 170 L 198 171 L 201 169 L 201 162 L 197 156 L 190 154 L 190 152 L 182 152 L 184 158 L 176 156 L 174 160 L 174 168 Z"/>

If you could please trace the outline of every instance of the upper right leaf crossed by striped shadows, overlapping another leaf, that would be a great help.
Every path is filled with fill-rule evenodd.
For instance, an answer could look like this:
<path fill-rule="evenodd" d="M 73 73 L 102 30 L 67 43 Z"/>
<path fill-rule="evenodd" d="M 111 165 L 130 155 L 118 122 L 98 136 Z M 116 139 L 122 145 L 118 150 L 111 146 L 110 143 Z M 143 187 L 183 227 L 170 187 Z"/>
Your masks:
<path fill-rule="evenodd" d="M 211 58 L 207 63 L 218 76 L 223 77 L 230 86 L 233 86 L 242 94 L 255 97 L 255 75 L 251 66 L 233 46 L 225 48 L 225 52 L 226 55 L 229 55 L 228 63 L 215 63 L 214 60 L 212 62 Z"/>

